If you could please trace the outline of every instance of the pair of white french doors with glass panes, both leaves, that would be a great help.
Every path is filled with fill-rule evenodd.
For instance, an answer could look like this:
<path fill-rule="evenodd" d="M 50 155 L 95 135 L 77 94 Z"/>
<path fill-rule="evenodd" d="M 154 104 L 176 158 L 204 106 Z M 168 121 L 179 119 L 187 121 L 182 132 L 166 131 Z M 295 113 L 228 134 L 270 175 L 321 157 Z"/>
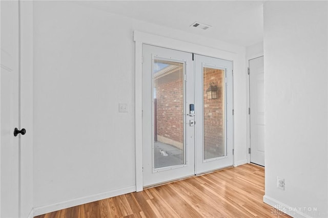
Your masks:
<path fill-rule="evenodd" d="M 142 46 L 144 186 L 231 166 L 232 62 Z"/>

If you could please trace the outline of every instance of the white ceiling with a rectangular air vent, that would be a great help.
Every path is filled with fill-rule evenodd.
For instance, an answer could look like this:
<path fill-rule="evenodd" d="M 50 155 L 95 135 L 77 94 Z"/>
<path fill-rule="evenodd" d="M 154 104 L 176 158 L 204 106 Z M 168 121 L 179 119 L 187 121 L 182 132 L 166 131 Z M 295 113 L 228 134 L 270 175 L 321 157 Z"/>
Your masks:
<path fill-rule="evenodd" d="M 240 46 L 263 40 L 263 1 L 92 1 L 83 4 Z M 190 27 L 194 21 L 212 27 L 208 30 Z"/>

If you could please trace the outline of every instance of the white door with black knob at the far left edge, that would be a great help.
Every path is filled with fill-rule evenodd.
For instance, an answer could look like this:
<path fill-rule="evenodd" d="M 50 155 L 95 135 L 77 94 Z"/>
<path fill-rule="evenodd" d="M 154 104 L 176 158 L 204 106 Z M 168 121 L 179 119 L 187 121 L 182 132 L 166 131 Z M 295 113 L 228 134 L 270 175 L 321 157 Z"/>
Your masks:
<path fill-rule="evenodd" d="M 0 216 L 19 217 L 18 2 L 1 1 Z"/>

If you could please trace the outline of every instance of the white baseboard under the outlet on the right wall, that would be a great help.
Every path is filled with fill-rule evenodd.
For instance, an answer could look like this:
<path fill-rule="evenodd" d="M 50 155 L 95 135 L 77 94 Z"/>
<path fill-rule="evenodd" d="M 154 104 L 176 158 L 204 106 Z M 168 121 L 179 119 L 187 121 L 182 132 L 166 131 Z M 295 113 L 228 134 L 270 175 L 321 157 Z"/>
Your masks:
<path fill-rule="evenodd" d="M 304 218 L 312 218 L 314 216 L 322 217 L 322 216 L 320 216 L 319 211 L 315 211 L 313 208 L 305 208 L 305 211 L 301 211 L 301 209 L 304 210 L 303 207 L 301 207 L 301 208 L 291 207 L 291 206 L 288 206 L 280 201 L 277 201 L 276 199 L 273 199 L 267 195 L 263 196 L 263 202 L 272 206 L 274 208 L 274 210 L 277 209 L 277 212 L 279 210 L 292 217 L 302 217 L 302 218 L 303 217 Z M 311 216 L 311 215 L 313 215 L 313 216 Z"/>

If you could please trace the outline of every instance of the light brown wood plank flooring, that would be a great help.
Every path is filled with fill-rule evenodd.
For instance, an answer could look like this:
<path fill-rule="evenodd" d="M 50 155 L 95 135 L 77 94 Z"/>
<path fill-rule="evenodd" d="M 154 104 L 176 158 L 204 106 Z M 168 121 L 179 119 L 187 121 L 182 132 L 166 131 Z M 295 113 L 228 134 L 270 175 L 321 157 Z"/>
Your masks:
<path fill-rule="evenodd" d="M 290 217 L 263 195 L 264 168 L 244 164 L 36 218 Z"/>

